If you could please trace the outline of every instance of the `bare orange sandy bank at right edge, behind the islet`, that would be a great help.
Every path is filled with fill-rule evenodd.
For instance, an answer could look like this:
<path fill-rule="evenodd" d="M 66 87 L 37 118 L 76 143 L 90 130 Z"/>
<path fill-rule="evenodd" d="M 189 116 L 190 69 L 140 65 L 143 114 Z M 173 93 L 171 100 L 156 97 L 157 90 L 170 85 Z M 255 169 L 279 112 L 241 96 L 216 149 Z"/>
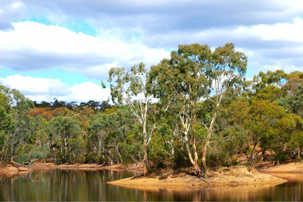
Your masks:
<path fill-rule="evenodd" d="M 303 163 L 286 163 L 258 170 L 262 173 L 303 173 Z"/>

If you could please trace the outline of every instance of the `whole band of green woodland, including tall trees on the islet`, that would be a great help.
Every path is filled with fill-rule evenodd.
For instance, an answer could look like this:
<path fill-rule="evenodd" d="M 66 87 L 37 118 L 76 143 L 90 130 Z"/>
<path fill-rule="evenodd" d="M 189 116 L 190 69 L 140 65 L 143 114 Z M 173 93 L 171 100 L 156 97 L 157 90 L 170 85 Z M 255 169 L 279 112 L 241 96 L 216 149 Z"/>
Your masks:
<path fill-rule="evenodd" d="M 232 43 L 179 45 L 149 71 L 112 68 L 112 102 L 38 104 L 0 86 L 0 163 L 207 167 L 301 161 L 303 72 L 256 72 Z M 102 86 L 106 84 L 102 82 Z"/>

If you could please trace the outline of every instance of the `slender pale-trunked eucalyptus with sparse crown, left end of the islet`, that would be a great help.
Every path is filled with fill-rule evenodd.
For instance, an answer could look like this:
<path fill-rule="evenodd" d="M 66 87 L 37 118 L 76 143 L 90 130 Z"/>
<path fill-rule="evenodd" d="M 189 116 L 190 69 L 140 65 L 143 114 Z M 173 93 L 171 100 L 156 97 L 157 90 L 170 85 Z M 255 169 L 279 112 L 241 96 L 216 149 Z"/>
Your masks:
<path fill-rule="evenodd" d="M 109 70 L 108 82 L 115 79 L 116 85 L 111 84 L 111 96 L 113 103 L 126 103 L 135 119 L 140 123 L 143 137 L 143 174 L 148 173 L 147 147 L 151 142 L 151 138 L 156 128 L 158 128 L 161 120 L 160 111 L 156 119 L 147 126 L 148 114 L 151 110 L 152 94 L 148 91 L 146 85 L 148 72 L 145 65 L 141 62 L 139 65 L 132 66 L 131 70 L 125 72 L 124 68 L 113 67 Z M 104 86 L 103 86 L 104 87 Z M 165 111 L 167 110 L 166 107 Z M 147 128 L 150 128 L 149 131 Z"/>

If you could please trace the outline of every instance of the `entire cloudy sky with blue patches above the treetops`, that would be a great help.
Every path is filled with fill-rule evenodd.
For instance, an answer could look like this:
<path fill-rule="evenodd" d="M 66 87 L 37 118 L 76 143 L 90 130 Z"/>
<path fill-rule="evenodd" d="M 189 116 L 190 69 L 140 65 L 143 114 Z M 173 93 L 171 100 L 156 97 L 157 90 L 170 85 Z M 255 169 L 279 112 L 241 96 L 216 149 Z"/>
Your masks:
<path fill-rule="evenodd" d="M 303 71 L 302 0 L 0 0 L 0 83 L 28 98 L 103 101 L 111 67 L 149 68 L 179 44 L 233 42 L 259 71 Z"/>

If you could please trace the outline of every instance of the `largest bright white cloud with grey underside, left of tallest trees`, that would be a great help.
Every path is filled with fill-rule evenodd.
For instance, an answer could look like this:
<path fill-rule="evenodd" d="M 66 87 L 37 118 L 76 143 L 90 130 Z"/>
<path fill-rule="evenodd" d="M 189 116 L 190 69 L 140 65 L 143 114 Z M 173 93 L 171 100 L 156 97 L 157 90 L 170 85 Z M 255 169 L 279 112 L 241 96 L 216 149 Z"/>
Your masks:
<path fill-rule="evenodd" d="M 129 68 L 142 61 L 150 66 L 170 54 L 140 42 L 91 36 L 55 25 L 30 21 L 12 25 L 14 30 L 0 31 L 0 66 L 16 70 L 62 67 L 105 79 L 110 65 Z"/>

